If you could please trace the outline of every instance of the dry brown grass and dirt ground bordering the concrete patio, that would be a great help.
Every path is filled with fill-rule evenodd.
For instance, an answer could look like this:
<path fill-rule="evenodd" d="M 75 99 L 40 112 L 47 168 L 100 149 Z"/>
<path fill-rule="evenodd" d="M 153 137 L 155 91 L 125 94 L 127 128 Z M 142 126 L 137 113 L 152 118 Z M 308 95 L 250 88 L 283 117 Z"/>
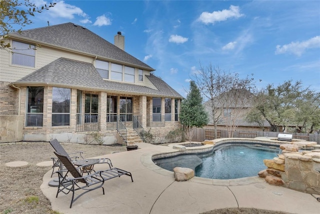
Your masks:
<path fill-rule="evenodd" d="M 61 143 L 68 152 L 85 151 L 84 158 L 113 152 L 126 151 L 123 146 L 101 146 L 88 144 Z M 51 167 L 39 167 L 36 163 L 50 161 L 54 157 L 53 148 L 48 142 L 0 143 L 0 213 L 55 213 L 50 202 L 42 194 L 40 185 L 43 175 Z M 22 167 L 7 167 L 11 161 L 26 161 Z M 206 214 L 284 214 L 252 208 L 225 208 L 205 212 Z"/>

